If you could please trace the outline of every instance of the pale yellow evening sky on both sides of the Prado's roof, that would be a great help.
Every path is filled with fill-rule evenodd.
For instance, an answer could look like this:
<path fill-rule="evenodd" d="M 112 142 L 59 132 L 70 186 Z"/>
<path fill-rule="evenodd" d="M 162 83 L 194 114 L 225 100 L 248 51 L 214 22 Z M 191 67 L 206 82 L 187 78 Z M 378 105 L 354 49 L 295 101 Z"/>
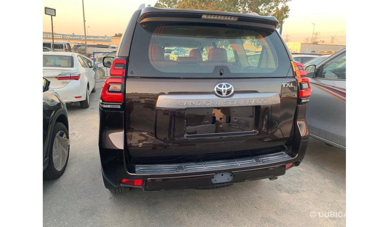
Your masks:
<path fill-rule="evenodd" d="M 130 17 L 140 4 L 154 5 L 156 0 L 84 0 L 87 35 L 113 36 L 124 33 Z M 318 40 L 330 42 L 331 36 L 338 44 L 346 42 L 346 2 L 326 0 L 292 0 L 289 5 L 289 18 L 283 24 L 282 36 L 289 42 L 302 42 L 319 33 Z M 55 33 L 83 35 L 82 0 L 43 0 L 43 7 L 56 9 L 53 17 Z M 50 16 L 43 14 L 43 31 L 51 32 Z M 286 37 L 286 35 L 289 35 Z"/>

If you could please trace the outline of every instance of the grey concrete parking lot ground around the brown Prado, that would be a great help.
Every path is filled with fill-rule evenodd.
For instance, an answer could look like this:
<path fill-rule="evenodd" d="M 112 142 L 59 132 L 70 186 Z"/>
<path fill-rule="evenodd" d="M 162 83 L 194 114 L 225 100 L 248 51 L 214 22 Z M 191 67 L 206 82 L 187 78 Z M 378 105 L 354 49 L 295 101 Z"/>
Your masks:
<path fill-rule="evenodd" d="M 345 217 L 320 216 L 346 211 L 346 153 L 313 138 L 301 165 L 278 180 L 112 194 L 98 153 L 101 85 L 88 109 L 67 106 L 69 161 L 59 179 L 43 181 L 44 226 L 345 226 Z"/>

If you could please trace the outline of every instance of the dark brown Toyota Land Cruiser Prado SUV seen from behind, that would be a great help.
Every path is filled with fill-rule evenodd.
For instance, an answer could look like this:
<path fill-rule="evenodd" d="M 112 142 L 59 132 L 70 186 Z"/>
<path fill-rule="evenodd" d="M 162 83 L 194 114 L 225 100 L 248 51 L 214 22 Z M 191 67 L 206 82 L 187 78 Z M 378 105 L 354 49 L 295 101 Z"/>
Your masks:
<path fill-rule="evenodd" d="M 300 165 L 310 85 L 277 25 L 254 14 L 135 11 L 116 57 L 103 59 L 105 187 L 216 189 Z M 258 61 L 248 60 L 246 44 L 261 50 Z M 168 60 L 165 47 L 185 54 Z"/>

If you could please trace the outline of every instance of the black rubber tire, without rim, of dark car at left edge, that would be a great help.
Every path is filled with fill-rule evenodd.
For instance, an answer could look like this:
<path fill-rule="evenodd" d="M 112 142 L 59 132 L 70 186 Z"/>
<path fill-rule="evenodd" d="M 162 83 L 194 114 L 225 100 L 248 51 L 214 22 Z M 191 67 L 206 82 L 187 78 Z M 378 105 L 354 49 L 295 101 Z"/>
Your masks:
<path fill-rule="evenodd" d="M 65 172 L 66 166 L 68 165 L 70 146 L 68 147 L 68 154 L 66 157 L 65 165 L 60 170 L 57 170 L 54 166 L 53 145 L 54 145 L 54 140 L 55 140 L 57 133 L 64 133 L 65 137 L 67 139 L 69 139 L 69 132 L 66 129 L 66 126 L 60 122 L 56 122 L 54 124 L 53 134 L 51 136 L 51 141 L 50 141 L 49 164 L 47 165 L 47 168 L 43 171 L 43 178 L 45 180 L 54 180 L 54 179 L 61 177 L 63 172 Z"/>

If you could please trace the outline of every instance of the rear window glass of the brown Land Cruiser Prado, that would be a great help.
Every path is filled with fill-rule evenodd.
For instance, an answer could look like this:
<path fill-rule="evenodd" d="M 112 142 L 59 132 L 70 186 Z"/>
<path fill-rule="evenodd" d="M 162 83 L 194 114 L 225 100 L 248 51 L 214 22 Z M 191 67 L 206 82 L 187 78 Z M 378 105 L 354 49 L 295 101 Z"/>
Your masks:
<path fill-rule="evenodd" d="M 290 68 L 274 30 L 209 23 L 137 24 L 130 63 L 147 77 L 285 77 Z"/>

